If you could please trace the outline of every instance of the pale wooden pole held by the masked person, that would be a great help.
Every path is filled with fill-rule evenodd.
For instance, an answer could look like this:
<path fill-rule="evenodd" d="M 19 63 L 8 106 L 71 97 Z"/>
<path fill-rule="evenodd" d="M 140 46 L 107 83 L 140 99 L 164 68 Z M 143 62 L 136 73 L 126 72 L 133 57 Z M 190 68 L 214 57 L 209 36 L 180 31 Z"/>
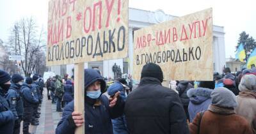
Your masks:
<path fill-rule="evenodd" d="M 75 64 L 74 78 L 74 111 L 81 112 L 84 118 L 84 63 Z M 76 128 L 75 133 L 84 133 L 84 123 Z"/>

